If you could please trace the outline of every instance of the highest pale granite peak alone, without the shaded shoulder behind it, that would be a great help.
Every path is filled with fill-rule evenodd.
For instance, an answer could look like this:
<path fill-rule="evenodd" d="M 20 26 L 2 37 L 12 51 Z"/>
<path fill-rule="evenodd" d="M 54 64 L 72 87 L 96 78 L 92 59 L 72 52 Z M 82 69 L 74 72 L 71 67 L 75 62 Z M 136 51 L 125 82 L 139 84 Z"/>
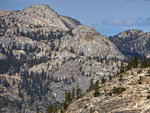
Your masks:
<path fill-rule="evenodd" d="M 20 11 L 22 18 L 29 19 L 32 24 L 68 30 L 59 15 L 48 5 L 32 5 Z M 30 23 L 29 22 L 29 23 Z"/>

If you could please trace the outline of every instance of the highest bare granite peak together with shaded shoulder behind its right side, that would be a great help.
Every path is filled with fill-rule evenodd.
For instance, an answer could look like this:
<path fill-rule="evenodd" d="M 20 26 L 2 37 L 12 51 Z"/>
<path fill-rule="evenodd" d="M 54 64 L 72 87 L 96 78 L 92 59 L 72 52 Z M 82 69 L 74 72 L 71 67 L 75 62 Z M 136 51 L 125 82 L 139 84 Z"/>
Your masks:
<path fill-rule="evenodd" d="M 23 21 L 27 21 L 28 19 L 32 24 L 63 30 L 73 29 L 80 25 L 79 21 L 60 16 L 48 5 L 43 4 L 32 5 L 23 9 L 19 12 L 18 18 L 20 18 L 20 16 L 22 16 L 22 19 L 24 18 Z"/>

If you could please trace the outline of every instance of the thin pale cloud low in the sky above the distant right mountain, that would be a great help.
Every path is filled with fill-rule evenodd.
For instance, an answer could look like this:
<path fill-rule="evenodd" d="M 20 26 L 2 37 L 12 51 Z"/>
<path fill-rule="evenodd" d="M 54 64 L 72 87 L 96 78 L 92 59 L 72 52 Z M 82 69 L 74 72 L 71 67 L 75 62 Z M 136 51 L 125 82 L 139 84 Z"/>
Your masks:
<path fill-rule="evenodd" d="M 150 18 L 109 19 L 103 21 L 102 24 L 113 26 L 150 26 Z"/>

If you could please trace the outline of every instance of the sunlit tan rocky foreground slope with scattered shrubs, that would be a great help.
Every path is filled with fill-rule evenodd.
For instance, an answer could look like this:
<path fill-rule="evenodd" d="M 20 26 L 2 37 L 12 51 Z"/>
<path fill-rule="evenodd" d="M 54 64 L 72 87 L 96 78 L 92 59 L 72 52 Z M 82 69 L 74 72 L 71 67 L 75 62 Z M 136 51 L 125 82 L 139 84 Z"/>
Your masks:
<path fill-rule="evenodd" d="M 150 68 L 132 69 L 72 102 L 66 113 L 150 113 Z"/>

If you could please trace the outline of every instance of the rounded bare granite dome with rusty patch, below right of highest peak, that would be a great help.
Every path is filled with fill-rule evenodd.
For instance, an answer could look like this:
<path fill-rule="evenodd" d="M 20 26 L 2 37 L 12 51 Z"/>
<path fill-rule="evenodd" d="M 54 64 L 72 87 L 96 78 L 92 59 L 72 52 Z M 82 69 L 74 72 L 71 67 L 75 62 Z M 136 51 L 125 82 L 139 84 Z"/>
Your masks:
<path fill-rule="evenodd" d="M 72 33 L 73 37 L 62 38 L 61 47 L 73 48 L 87 57 L 124 58 L 113 43 L 88 26 L 79 25 Z"/>

